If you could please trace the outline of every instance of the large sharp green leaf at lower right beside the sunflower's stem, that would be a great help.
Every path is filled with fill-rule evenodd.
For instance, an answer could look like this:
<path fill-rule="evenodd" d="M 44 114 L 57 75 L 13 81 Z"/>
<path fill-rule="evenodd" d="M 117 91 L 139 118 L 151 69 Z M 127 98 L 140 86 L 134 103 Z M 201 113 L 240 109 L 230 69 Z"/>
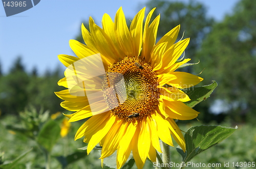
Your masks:
<path fill-rule="evenodd" d="M 177 151 L 181 154 L 183 161 L 186 163 L 193 157 L 207 150 L 208 148 L 220 143 L 229 137 L 236 128 L 226 128 L 221 126 L 195 126 L 191 127 L 185 133 L 186 152 L 181 148 Z"/>

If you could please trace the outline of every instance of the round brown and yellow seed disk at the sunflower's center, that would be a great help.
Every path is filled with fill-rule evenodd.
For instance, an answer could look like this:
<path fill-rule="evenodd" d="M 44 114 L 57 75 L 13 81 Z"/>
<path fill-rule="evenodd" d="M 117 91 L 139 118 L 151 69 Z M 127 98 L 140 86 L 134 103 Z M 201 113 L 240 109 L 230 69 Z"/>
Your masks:
<path fill-rule="evenodd" d="M 111 112 L 126 121 L 143 118 L 158 103 L 157 76 L 140 59 L 126 57 L 109 66 L 102 89 Z"/>

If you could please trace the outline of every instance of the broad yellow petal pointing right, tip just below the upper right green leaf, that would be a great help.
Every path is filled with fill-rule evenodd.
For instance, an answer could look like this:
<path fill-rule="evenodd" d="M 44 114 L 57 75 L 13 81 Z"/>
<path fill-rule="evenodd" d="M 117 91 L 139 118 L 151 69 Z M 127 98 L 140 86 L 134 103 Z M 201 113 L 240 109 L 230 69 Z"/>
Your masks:
<path fill-rule="evenodd" d="M 188 107 L 181 101 L 168 101 L 164 100 L 165 112 L 169 118 L 178 120 L 191 120 L 195 119 L 200 112 Z"/>

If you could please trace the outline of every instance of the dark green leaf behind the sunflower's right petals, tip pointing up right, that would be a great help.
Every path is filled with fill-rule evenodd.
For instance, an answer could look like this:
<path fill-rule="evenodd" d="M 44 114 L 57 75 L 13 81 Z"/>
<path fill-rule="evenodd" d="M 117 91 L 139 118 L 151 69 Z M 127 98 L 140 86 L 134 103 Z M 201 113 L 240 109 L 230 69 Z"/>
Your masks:
<path fill-rule="evenodd" d="M 214 80 L 211 83 L 211 85 L 208 85 L 208 86 L 191 87 L 191 88 L 183 89 L 182 91 L 185 92 L 191 99 L 190 101 L 187 101 L 184 103 L 189 107 L 194 107 L 201 101 L 210 97 L 210 94 L 215 90 L 217 86 L 218 86 L 218 83 Z"/>

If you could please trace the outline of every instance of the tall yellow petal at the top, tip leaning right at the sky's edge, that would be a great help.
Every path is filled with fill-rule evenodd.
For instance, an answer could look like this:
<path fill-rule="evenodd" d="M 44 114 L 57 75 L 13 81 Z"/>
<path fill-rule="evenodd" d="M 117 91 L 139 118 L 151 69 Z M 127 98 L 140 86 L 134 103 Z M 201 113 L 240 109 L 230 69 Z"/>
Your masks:
<path fill-rule="evenodd" d="M 143 26 L 143 20 L 145 15 L 145 7 L 140 10 L 137 15 L 134 17 L 131 26 L 130 31 L 132 34 L 132 41 L 134 42 L 134 49 L 135 49 L 135 57 L 138 57 L 141 50 L 142 45 L 142 26 Z"/>

